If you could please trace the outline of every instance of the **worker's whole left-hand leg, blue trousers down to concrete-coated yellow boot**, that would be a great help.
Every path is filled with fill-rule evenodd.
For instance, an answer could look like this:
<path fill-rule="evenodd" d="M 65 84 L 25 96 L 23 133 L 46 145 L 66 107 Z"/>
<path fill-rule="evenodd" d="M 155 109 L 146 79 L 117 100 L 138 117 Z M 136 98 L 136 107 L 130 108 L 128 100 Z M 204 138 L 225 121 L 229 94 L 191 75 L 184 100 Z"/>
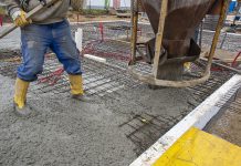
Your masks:
<path fill-rule="evenodd" d="M 36 74 L 42 72 L 44 53 L 48 41 L 44 27 L 28 25 L 21 30 L 22 64 L 18 68 L 15 82 L 14 105 L 19 114 L 29 114 L 25 106 L 29 83 L 36 80 Z"/>

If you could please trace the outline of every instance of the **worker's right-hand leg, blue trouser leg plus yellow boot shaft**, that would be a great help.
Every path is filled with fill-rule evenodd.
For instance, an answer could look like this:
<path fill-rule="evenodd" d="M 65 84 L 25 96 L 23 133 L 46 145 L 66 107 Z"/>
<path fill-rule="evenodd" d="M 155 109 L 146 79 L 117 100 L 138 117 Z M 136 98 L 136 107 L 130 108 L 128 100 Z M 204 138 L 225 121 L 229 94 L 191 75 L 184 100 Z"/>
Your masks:
<path fill-rule="evenodd" d="M 74 97 L 83 96 L 80 52 L 71 35 L 69 22 L 55 23 L 52 33 L 53 43 L 51 49 L 56 53 L 57 59 L 64 65 L 64 70 L 69 73 L 71 93 Z"/>

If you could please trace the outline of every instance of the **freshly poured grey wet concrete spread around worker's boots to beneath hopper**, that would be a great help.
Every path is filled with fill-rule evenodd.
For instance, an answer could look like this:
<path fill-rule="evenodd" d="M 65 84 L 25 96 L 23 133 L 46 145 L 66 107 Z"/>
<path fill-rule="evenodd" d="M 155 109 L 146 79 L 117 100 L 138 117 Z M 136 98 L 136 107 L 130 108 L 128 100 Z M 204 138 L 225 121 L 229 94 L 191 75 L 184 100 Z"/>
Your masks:
<path fill-rule="evenodd" d="M 136 146 L 118 125 L 142 113 L 178 117 L 190 101 L 185 90 L 153 91 L 146 85 L 95 103 L 30 93 L 33 114 L 20 118 L 12 112 L 14 81 L 0 75 L 0 165 L 4 166 L 128 165 L 137 157 Z"/>

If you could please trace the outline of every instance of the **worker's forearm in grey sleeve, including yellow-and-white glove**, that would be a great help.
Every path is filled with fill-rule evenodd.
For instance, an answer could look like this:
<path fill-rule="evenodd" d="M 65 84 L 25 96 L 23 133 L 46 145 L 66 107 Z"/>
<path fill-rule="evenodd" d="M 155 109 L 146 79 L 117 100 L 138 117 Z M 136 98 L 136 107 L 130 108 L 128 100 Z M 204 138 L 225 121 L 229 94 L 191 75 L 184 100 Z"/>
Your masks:
<path fill-rule="evenodd" d="M 25 12 L 20 8 L 19 0 L 0 0 L 6 4 L 9 15 L 12 18 L 17 27 L 24 27 L 30 21 L 25 19 Z"/>

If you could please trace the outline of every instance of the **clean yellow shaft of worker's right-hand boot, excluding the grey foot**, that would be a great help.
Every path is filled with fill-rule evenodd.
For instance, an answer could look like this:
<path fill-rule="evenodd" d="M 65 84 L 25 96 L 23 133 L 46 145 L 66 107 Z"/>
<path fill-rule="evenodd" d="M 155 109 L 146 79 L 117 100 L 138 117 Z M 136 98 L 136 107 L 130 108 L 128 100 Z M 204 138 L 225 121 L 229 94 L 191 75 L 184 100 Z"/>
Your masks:
<path fill-rule="evenodd" d="M 84 95 L 83 79 L 81 75 L 69 75 L 72 95 Z"/>

